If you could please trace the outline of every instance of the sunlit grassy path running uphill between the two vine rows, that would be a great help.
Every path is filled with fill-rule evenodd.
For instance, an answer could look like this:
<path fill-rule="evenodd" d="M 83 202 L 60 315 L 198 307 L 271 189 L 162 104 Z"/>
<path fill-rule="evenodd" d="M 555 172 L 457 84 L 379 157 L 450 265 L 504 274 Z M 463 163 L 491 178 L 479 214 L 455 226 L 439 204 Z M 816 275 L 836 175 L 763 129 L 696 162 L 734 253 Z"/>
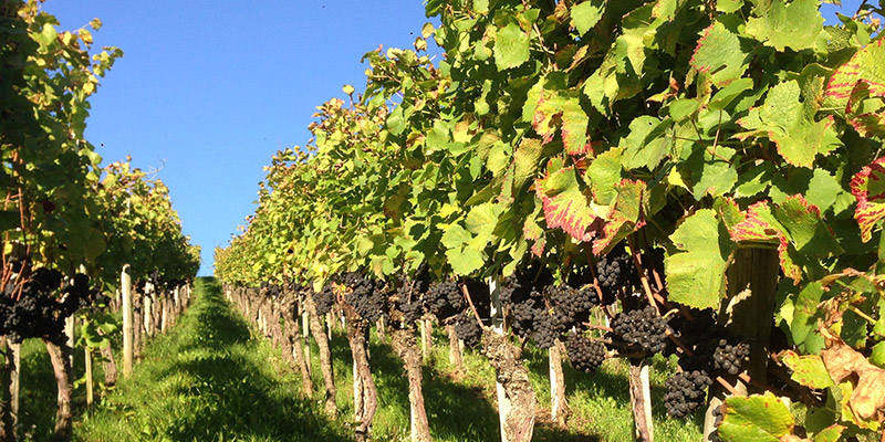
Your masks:
<path fill-rule="evenodd" d="M 300 381 L 211 278 L 166 336 L 150 341 L 131 379 L 86 412 L 82 441 L 339 441 L 347 430 L 299 399 Z"/>

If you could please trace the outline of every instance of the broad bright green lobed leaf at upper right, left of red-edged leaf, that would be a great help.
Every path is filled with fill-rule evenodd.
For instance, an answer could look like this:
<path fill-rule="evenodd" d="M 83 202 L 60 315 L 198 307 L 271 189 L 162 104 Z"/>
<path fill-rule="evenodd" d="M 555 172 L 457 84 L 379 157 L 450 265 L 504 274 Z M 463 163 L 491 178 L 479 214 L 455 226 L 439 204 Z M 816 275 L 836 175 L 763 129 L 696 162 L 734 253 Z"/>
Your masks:
<path fill-rule="evenodd" d="M 795 80 L 780 83 L 769 90 L 761 107 L 738 120 L 752 131 L 739 134 L 738 138 L 767 136 L 778 146 L 778 152 L 787 162 L 811 168 L 818 154 L 826 154 L 835 146 L 829 136 L 833 117 L 813 122 L 805 116 L 799 101 L 800 88 Z"/>

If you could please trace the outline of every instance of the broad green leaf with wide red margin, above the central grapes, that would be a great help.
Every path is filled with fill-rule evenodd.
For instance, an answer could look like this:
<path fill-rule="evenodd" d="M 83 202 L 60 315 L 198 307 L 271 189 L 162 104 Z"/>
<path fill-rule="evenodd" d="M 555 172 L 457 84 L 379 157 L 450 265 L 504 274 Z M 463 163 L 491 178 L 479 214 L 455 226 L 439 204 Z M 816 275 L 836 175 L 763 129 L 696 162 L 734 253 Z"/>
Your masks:
<path fill-rule="evenodd" d="M 546 225 L 560 228 L 577 241 L 590 241 L 596 215 L 590 207 L 589 191 L 579 182 L 574 167 L 562 167 L 561 158 L 548 164 L 548 175 L 535 180 L 535 192 L 544 209 Z"/>

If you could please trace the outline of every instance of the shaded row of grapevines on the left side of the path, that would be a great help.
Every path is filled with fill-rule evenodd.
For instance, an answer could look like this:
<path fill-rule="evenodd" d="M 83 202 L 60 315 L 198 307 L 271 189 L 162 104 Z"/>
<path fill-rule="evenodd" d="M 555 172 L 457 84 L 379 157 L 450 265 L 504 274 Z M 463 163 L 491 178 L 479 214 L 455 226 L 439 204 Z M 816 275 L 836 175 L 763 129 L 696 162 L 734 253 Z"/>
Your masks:
<path fill-rule="evenodd" d="M 95 350 L 113 360 L 110 340 L 118 326 L 108 306 L 119 305 L 114 294 L 121 272 L 165 299 L 179 297 L 199 267 L 199 248 L 183 234 L 166 186 L 128 158 L 101 166 L 84 138 L 88 98 L 122 51 L 92 50 L 97 19 L 88 28 L 59 31 L 40 3 L 0 1 L 3 441 L 20 432 L 19 380 L 28 376 L 19 367 L 22 340 L 45 343 L 59 389 L 54 429 L 39 430 L 70 440 L 71 355 L 81 347 L 90 355 L 86 364 Z M 163 312 L 171 319 L 166 304 Z"/>

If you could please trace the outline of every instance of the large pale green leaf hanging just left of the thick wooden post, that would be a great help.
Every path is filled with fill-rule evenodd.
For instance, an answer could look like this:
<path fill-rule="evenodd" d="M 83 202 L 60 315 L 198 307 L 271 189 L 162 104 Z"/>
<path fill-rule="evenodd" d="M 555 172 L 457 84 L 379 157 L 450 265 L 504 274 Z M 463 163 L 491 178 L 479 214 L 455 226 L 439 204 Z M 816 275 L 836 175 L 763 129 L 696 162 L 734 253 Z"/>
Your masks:
<path fill-rule="evenodd" d="M 726 294 L 726 267 L 736 244 L 711 209 L 684 219 L 669 236 L 678 250 L 664 261 L 670 299 L 695 308 L 717 307 Z"/>

